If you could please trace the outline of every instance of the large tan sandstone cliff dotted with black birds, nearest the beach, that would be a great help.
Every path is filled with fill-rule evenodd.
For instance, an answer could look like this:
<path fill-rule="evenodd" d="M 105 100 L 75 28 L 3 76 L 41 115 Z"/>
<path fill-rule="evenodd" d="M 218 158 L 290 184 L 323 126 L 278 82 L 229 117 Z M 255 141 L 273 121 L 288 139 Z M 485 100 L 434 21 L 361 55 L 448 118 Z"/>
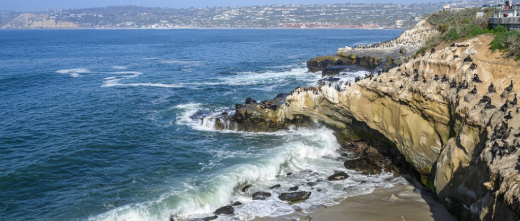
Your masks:
<path fill-rule="evenodd" d="M 491 40 L 482 35 L 440 45 L 341 88 L 296 88 L 278 100 L 238 107 L 217 127 L 364 122 L 395 144 L 460 220 L 518 220 L 520 69 L 490 51 Z"/>

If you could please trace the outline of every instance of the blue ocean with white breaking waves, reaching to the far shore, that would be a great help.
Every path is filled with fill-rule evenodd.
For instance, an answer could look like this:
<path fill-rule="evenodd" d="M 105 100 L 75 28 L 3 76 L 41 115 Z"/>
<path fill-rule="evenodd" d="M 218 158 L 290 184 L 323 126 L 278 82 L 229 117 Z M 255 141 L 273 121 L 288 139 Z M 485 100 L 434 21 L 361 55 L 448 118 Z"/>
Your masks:
<path fill-rule="evenodd" d="M 217 220 L 250 220 L 402 183 L 346 170 L 324 126 L 244 133 L 202 120 L 317 85 L 303 61 L 401 32 L 0 31 L 0 219 L 181 220 L 240 201 Z M 322 181 L 336 171 L 350 177 Z M 293 186 L 310 198 L 278 200 Z M 272 196 L 253 201 L 256 191 Z"/>

